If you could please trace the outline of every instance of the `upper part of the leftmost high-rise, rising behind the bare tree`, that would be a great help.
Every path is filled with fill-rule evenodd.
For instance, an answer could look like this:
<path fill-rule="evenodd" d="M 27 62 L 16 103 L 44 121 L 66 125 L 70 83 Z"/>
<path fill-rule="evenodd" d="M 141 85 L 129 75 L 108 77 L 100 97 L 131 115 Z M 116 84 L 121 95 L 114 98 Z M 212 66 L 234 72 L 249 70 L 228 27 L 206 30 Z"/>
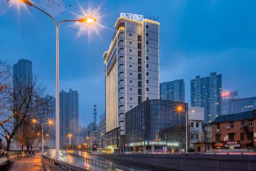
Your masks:
<path fill-rule="evenodd" d="M 32 81 L 32 62 L 27 59 L 19 59 L 13 65 L 13 84 L 15 86 L 27 85 Z"/>

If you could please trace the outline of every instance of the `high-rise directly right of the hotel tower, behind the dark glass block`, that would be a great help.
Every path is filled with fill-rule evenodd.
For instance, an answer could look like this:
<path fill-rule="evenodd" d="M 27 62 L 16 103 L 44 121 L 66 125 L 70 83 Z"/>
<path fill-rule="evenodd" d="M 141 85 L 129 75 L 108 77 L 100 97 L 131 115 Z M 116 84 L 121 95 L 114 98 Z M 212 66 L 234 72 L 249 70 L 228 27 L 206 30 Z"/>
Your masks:
<path fill-rule="evenodd" d="M 162 82 L 159 85 L 160 99 L 185 102 L 185 82 L 184 79 Z"/>

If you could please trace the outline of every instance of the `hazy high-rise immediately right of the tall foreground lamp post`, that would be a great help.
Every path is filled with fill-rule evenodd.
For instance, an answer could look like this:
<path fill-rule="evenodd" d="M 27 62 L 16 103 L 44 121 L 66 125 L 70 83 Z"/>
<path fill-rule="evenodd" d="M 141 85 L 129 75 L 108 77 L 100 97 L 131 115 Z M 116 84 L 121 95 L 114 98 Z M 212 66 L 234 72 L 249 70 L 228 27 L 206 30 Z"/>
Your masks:
<path fill-rule="evenodd" d="M 60 136 L 62 142 L 67 140 L 67 135 L 72 134 L 72 139 L 79 135 L 79 94 L 77 90 L 59 92 L 59 118 Z M 76 143 L 76 142 L 72 142 Z"/>

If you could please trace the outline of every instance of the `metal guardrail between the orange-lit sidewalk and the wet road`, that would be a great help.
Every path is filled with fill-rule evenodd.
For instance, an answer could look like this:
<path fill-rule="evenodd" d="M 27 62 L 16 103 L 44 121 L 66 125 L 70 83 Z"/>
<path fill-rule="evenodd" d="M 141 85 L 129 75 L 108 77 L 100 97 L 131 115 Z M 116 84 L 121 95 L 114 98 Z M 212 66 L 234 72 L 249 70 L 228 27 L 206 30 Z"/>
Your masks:
<path fill-rule="evenodd" d="M 71 163 L 62 162 L 60 160 L 52 159 L 51 157 L 48 157 L 46 155 L 42 155 L 42 157 L 44 157 L 44 159 L 48 160 L 49 162 L 56 165 L 57 167 L 59 167 L 62 170 L 72 170 L 72 171 L 86 171 L 87 170 L 87 169 L 84 169 L 83 167 L 73 165 Z"/>

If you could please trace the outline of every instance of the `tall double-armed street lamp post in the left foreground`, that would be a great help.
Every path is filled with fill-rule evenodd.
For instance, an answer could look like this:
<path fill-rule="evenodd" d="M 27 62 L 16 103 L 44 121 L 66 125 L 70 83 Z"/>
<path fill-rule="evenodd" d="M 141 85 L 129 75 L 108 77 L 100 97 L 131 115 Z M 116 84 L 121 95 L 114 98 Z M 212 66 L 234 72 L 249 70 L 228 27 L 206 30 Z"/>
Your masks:
<path fill-rule="evenodd" d="M 91 16 L 87 16 L 81 19 L 71 19 L 71 20 L 62 20 L 59 23 L 47 12 L 43 11 L 39 7 L 32 4 L 29 0 L 19 0 L 25 4 L 35 7 L 39 11 L 43 12 L 49 16 L 56 26 L 56 159 L 59 159 L 59 25 L 63 22 L 85 22 L 87 24 L 92 24 L 96 22 L 96 19 Z"/>

